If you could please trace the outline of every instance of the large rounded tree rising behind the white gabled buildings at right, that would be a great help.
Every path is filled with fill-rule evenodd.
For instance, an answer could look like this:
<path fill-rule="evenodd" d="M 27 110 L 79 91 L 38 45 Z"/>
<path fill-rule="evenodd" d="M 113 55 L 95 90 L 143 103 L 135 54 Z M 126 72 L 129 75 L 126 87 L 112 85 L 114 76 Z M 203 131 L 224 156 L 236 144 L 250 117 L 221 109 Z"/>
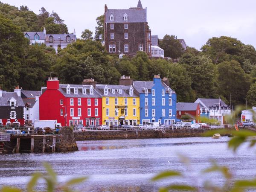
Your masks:
<path fill-rule="evenodd" d="M 224 61 L 218 64 L 218 93 L 231 99 L 235 105 L 244 104 L 250 88 L 250 76 L 244 72 L 239 62 Z"/>

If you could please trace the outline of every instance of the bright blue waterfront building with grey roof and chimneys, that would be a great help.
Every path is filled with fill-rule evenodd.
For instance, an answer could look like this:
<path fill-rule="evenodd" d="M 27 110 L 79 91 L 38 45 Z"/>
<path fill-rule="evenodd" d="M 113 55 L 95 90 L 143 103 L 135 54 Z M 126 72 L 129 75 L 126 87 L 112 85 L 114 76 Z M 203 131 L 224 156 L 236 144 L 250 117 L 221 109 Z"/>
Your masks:
<path fill-rule="evenodd" d="M 153 81 L 133 81 L 130 77 L 121 77 L 120 84 L 132 84 L 140 95 L 140 123 L 159 122 L 171 125 L 176 122 L 177 96 L 169 87 L 167 78 L 154 76 Z"/>

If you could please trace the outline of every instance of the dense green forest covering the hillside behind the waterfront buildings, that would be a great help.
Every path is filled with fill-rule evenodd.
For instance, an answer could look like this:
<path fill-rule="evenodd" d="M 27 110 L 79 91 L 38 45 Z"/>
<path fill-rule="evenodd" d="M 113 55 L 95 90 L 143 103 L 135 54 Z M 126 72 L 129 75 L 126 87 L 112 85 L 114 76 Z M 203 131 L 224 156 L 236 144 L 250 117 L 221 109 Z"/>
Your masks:
<path fill-rule="evenodd" d="M 40 90 L 48 76 L 61 83 L 81 84 L 83 79 L 95 79 L 101 84 L 118 84 L 120 76 L 151 81 L 155 74 L 168 77 L 178 102 L 194 102 L 196 98 L 221 96 L 233 105 L 256 106 L 256 50 L 232 37 L 212 37 L 201 51 L 188 47 L 182 50 L 175 35 L 165 35 L 160 46 L 165 55 L 178 58 L 177 63 L 150 59 L 145 52 L 134 58 L 109 55 L 101 41 L 104 16 L 96 18 L 95 35 L 85 29 L 81 39 L 58 50 L 44 44 L 29 45 L 24 31 L 68 33 L 67 26 L 54 11 L 44 7 L 36 15 L 27 6 L 10 6 L 0 2 L 0 86 L 13 90 Z M 168 32 L 166 32 L 168 33 Z"/>

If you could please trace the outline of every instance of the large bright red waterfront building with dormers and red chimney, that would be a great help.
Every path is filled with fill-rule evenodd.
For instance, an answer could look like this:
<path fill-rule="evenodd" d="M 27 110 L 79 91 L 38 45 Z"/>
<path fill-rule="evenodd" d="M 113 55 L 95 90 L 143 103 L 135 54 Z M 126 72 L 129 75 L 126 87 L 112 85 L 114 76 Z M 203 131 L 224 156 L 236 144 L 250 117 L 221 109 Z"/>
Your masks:
<path fill-rule="evenodd" d="M 57 120 L 62 126 L 102 124 L 102 99 L 95 85 L 59 84 L 47 81 L 39 98 L 39 119 Z"/>

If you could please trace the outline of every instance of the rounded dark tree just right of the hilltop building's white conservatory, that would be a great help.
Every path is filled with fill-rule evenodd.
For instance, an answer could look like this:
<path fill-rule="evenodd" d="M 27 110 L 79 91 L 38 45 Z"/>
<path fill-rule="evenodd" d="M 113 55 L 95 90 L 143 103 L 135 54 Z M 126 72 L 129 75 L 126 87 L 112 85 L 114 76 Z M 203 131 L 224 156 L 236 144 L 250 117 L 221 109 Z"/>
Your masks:
<path fill-rule="evenodd" d="M 171 58 L 180 57 L 183 51 L 183 47 L 175 38 L 175 35 L 165 35 L 163 40 L 160 41 L 160 47 L 164 49 L 164 55 Z"/>

